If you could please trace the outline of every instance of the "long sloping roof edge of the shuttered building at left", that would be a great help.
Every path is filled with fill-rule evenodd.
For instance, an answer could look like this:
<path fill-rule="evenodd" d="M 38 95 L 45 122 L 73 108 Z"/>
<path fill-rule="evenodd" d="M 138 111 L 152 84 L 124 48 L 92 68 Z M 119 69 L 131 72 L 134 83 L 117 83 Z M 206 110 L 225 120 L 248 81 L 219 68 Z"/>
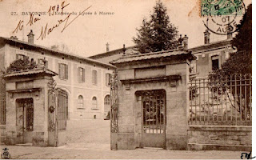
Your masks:
<path fill-rule="evenodd" d="M 43 51 L 48 51 L 48 52 L 51 52 L 53 54 L 56 54 L 56 55 L 59 55 L 59 56 L 65 56 L 66 58 L 76 58 L 78 60 L 81 60 L 81 61 L 84 61 L 84 62 L 89 62 L 89 63 L 93 63 L 93 64 L 98 64 L 99 66 L 105 66 L 105 67 L 110 67 L 110 68 L 115 68 L 115 66 L 113 65 L 110 65 L 109 63 L 104 63 L 104 62 L 100 62 L 100 61 L 97 61 L 97 60 L 94 60 L 94 59 L 91 59 L 91 58 L 85 58 L 85 57 L 82 57 L 82 56 L 78 56 L 78 55 L 75 55 L 75 54 L 70 54 L 70 53 L 66 53 L 66 52 L 63 52 L 63 51 L 60 51 L 60 50 L 52 50 L 50 48 L 47 48 L 45 46 L 39 46 L 39 45 L 36 45 L 36 44 L 31 44 L 29 42 L 24 42 L 24 41 L 20 41 L 18 39 L 14 39 L 14 38 L 4 38 L 4 37 L 0 37 L 0 42 L 1 41 L 4 41 L 4 42 L 7 42 L 7 43 L 10 43 L 10 44 L 21 44 L 23 46 L 29 46 L 29 47 L 32 47 L 33 49 L 39 49 L 39 50 L 43 50 Z"/>

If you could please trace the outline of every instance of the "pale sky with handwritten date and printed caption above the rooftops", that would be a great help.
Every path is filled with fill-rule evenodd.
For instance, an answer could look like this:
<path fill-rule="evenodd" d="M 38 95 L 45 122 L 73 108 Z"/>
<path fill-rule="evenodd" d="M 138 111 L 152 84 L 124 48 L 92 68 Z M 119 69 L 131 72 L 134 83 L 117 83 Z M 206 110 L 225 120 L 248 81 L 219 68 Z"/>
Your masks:
<path fill-rule="evenodd" d="M 150 17 L 155 2 L 156 0 L 0 0 L 0 36 L 17 36 L 19 40 L 27 41 L 26 35 L 33 30 L 35 44 L 46 47 L 64 45 L 72 54 L 89 57 L 106 52 L 107 42 L 110 50 L 121 48 L 123 44 L 134 46 L 132 38 L 138 33 L 136 28 L 142 25 L 143 18 Z M 178 27 L 179 34 L 188 36 L 189 48 L 203 45 L 206 27 L 199 16 L 200 0 L 162 2 L 167 7 L 170 22 Z M 244 3 L 248 6 L 251 0 L 244 0 Z M 62 9 L 62 6 L 65 7 Z M 49 15 L 49 10 L 50 13 L 58 10 L 58 13 Z M 79 15 L 82 11 L 84 14 Z M 40 16 L 34 14 L 33 24 L 30 22 L 30 12 L 40 12 Z M 67 13 L 73 14 L 67 17 Z M 53 29 L 42 39 L 40 34 L 44 33 L 45 28 Z M 210 34 L 211 42 L 225 38 L 226 36 Z"/>

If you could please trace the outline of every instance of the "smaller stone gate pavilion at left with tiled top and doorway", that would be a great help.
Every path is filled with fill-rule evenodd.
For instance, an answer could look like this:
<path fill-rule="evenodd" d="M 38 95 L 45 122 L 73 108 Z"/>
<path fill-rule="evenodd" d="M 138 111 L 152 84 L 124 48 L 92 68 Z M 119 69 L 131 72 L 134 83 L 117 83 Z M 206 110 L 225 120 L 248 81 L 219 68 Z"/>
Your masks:
<path fill-rule="evenodd" d="M 48 86 L 57 75 L 45 68 L 5 74 L 6 145 L 48 146 Z"/>

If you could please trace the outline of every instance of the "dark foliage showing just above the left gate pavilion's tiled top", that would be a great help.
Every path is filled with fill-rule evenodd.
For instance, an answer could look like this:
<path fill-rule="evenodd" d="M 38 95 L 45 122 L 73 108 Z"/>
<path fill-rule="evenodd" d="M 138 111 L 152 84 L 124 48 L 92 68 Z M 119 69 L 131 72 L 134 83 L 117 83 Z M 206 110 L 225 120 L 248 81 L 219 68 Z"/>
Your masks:
<path fill-rule="evenodd" d="M 10 66 L 8 66 L 6 73 L 21 70 L 32 70 L 35 67 L 37 67 L 36 62 L 34 62 L 33 59 L 30 61 L 29 58 L 25 56 L 23 59 L 17 59 L 14 62 L 10 63 Z"/>

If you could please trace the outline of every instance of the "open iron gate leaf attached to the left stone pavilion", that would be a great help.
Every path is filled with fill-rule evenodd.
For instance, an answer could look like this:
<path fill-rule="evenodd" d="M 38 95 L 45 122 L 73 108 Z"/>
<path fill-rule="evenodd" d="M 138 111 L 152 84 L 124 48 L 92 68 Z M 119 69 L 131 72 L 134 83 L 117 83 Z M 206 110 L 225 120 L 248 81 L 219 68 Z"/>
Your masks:
<path fill-rule="evenodd" d="M 48 143 L 49 146 L 58 146 L 58 133 L 60 130 L 66 130 L 68 97 L 65 90 L 55 88 L 54 79 L 48 86 Z"/>

